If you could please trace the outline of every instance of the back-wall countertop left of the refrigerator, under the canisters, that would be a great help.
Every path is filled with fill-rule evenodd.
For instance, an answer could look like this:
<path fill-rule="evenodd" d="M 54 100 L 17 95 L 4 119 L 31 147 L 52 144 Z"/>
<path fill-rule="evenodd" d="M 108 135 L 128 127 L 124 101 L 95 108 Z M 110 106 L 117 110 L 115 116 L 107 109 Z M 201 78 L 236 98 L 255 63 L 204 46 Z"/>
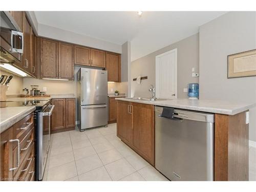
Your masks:
<path fill-rule="evenodd" d="M 33 100 L 75 98 L 74 94 L 49 94 L 49 95 L 50 97 L 14 97 L 14 98 L 8 98 L 7 101 L 33 101 Z"/>

